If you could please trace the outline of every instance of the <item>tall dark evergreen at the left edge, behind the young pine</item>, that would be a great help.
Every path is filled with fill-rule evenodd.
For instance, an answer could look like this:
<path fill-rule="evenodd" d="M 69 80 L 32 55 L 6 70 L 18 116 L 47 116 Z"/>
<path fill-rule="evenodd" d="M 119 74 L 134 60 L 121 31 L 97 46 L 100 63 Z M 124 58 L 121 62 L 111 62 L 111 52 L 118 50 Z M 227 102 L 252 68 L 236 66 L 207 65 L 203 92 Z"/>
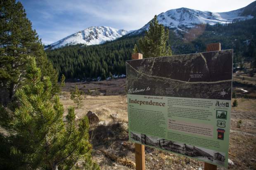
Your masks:
<path fill-rule="evenodd" d="M 21 2 L 0 0 L 0 103 L 7 105 L 24 82 L 26 56 L 36 56 L 42 74 L 59 90 L 58 74 L 47 60 L 41 40 L 26 18 Z"/>

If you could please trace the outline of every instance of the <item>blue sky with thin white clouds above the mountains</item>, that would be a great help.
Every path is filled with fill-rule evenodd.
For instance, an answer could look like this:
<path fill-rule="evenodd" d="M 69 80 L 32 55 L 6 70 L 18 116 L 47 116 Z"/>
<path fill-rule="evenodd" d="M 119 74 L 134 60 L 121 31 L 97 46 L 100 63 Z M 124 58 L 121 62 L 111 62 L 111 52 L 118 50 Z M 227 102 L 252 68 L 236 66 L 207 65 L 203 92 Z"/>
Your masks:
<path fill-rule="evenodd" d="M 44 44 L 90 26 L 136 30 L 155 14 L 187 7 L 228 12 L 254 0 L 19 0 Z"/>

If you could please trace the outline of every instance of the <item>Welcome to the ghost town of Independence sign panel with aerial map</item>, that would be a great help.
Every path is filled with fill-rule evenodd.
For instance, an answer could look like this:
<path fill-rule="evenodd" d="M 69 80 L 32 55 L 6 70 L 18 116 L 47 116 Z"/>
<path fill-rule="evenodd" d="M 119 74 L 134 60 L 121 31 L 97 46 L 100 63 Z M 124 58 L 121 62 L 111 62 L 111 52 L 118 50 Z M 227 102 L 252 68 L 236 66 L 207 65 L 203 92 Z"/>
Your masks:
<path fill-rule="evenodd" d="M 129 140 L 228 167 L 232 55 L 126 61 Z"/>

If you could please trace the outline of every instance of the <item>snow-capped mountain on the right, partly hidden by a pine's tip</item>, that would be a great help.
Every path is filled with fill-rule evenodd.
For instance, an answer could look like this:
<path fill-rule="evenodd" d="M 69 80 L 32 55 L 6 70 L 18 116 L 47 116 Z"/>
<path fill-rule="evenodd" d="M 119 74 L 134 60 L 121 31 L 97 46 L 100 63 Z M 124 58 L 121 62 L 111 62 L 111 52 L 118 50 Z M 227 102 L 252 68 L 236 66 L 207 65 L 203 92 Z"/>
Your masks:
<path fill-rule="evenodd" d="M 256 1 L 252 2 L 246 7 L 230 11 L 230 12 L 209 12 L 199 11 L 189 8 L 171 9 L 157 16 L 160 24 L 168 28 L 177 28 L 183 30 L 185 28 L 192 28 L 196 24 L 209 23 L 214 25 L 216 23 L 232 23 L 233 21 L 241 21 L 252 19 L 256 16 Z M 150 21 L 140 28 L 130 33 L 130 35 L 140 33 L 149 28 Z"/>

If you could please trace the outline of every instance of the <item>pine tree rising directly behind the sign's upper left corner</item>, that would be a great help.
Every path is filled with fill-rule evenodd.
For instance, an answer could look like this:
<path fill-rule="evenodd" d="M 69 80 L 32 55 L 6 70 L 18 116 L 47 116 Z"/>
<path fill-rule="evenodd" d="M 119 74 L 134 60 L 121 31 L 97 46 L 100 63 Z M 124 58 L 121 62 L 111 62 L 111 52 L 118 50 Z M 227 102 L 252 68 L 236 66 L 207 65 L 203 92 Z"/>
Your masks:
<path fill-rule="evenodd" d="M 168 39 L 168 29 L 165 30 L 164 26 L 158 23 L 155 15 L 149 24 L 149 30 L 145 32 L 145 37 L 139 40 L 143 58 L 171 56 L 171 48 L 166 44 Z"/>

